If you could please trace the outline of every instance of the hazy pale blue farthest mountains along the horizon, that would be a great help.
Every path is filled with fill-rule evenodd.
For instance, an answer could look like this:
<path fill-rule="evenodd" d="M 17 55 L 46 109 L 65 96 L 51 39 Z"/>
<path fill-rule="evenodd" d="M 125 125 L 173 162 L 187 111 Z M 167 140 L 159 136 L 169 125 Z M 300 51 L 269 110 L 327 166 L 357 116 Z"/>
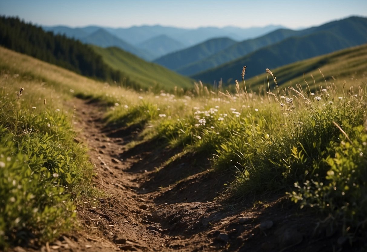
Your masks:
<path fill-rule="evenodd" d="M 258 28 L 227 26 L 224 28 L 183 29 L 160 25 L 130 28 L 43 26 L 46 31 L 64 34 L 66 37 L 79 39 L 84 43 L 101 47 L 116 46 L 149 61 L 209 39 L 228 37 L 240 41 L 261 36 L 279 28 L 284 27 L 269 25 Z"/>

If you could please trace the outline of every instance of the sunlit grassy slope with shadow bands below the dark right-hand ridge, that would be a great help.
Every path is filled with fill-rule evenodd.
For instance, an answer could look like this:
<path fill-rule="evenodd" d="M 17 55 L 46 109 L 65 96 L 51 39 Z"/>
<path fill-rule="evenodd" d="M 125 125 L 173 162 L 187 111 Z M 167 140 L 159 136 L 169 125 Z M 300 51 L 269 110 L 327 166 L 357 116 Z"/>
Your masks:
<path fill-rule="evenodd" d="M 351 79 L 356 76 L 367 76 L 367 44 L 334 53 L 298 61 L 279 68 L 271 69 L 276 75 L 280 87 L 299 83 L 301 87 L 309 84 L 315 90 L 314 83 L 334 82 L 334 79 Z M 320 71 L 322 74 L 320 74 Z M 305 74 L 305 76 L 303 76 Z M 355 76 L 355 77 L 353 77 Z M 306 82 L 305 82 L 306 81 Z M 269 80 L 270 87 L 274 87 L 273 80 Z M 246 84 L 253 90 L 259 85 L 268 86 L 268 74 L 264 73 L 250 79 Z"/>

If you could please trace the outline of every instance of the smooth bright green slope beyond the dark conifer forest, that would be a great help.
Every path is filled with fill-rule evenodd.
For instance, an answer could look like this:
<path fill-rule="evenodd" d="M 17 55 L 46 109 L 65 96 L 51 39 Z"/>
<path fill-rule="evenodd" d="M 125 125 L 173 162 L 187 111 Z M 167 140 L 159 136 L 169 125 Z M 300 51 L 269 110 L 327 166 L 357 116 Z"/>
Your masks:
<path fill-rule="evenodd" d="M 163 87 L 166 90 L 173 90 L 176 86 L 184 89 L 193 87 L 192 79 L 155 63 L 146 62 L 117 47 L 101 48 L 92 46 L 92 48 L 102 56 L 106 64 L 116 70 L 123 71 L 132 81 L 143 87 Z"/>

